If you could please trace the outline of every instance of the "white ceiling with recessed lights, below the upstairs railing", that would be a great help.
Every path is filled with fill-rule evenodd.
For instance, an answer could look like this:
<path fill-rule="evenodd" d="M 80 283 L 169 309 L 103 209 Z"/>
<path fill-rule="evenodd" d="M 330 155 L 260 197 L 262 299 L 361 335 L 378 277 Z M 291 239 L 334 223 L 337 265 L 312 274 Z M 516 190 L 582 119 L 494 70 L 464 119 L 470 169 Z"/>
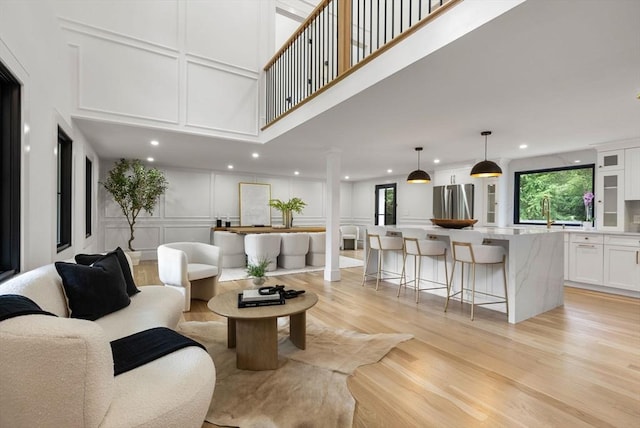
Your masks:
<path fill-rule="evenodd" d="M 350 78 L 357 78 L 357 73 Z M 338 84 L 339 85 L 339 84 Z M 77 119 L 102 158 L 352 180 L 640 137 L 640 1 L 529 0 L 264 145 Z M 162 144 L 150 149 L 149 140 Z M 520 144 L 527 144 L 525 150 Z M 260 153 L 259 159 L 250 154 Z"/>

